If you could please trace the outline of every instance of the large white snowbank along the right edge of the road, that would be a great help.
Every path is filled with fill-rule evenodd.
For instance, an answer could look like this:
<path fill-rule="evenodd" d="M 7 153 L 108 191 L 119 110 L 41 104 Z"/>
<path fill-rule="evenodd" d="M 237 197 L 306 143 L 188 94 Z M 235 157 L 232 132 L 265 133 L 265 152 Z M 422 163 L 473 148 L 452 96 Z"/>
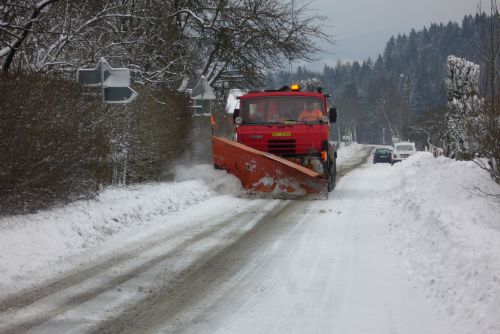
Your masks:
<path fill-rule="evenodd" d="M 473 162 L 418 153 L 391 171 L 392 244 L 457 328 L 500 333 L 500 186 Z M 470 329 L 473 330 L 473 329 Z"/>

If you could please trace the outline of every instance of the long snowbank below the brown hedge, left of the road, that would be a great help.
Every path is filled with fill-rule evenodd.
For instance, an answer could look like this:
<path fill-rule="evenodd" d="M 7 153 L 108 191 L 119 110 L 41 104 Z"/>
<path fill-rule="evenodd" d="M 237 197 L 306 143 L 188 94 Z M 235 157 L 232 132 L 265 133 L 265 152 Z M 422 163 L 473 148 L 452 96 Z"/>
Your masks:
<path fill-rule="evenodd" d="M 0 218 L 0 288 L 37 268 L 108 240 L 131 227 L 169 217 L 224 193 L 236 191 L 232 177 L 206 166 L 186 169 L 192 180 L 109 188 L 95 200 L 81 200 L 36 214 Z M 229 186 L 223 186 L 227 183 Z M 232 186 L 231 186 L 232 185 Z M 167 224 L 168 221 L 161 221 Z"/>

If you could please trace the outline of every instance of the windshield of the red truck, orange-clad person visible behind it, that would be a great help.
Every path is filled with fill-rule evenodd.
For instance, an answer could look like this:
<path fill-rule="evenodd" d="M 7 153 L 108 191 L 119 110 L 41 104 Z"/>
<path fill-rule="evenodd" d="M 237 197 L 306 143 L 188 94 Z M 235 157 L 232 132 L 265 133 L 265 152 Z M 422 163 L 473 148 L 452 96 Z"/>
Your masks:
<path fill-rule="evenodd" d="M 240 109 L 243 124 L 319 123 L 325 114 L 319 98 L 306 96 L 245 99 Z"/>

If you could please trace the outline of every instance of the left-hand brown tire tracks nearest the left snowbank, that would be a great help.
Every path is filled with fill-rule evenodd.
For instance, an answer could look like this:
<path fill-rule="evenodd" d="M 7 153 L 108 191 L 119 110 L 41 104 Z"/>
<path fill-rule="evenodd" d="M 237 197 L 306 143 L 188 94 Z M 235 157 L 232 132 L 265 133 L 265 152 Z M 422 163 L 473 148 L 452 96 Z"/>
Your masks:
<path fill-rule="evenodd" d="M 255 212 L 261 207 L 262 203 L 257 203 L 246 208 L 246 214 L 240 217 L 241 221 L 250 221 L 255 215 L 249 212 Z M 208 218 L 205 218 L 203 221 L 207 219 Z M 145 271 L 158 266 L 165 260 L 179 256 L 183 252 L 189 250 L 189 248 L 197 242 L 203 241 L 217 234 L 224 228 L 235 224 L 235 221 L 238 219 L 230 215 L 229 217 L 219 216 L 215 218 L 215 220 L 214 223 L 210 224 L 211 226 L 209 228 L 201 229 L 199 233 L 193 234 L 193 225 L 203 226 L 203 222 L 200 224 L 190 224 L 182 228 L 178 233 L 172 234 L 172 231 L 167 231 L 164 235 L 155 238 L 152 242 L 147 240 L 147 244 L 144 242 L 145 240 L 136 241 L 132 244 L 132 248 L 130 248 L 130 246 L 127 247 L 127 251 L 123 253 L 108 257 L 97 264 L 87 265 L 84 266 L 84 268 L 70 271 L 61 278 L 4 298 L 0 301 L 0 333 L 25 332 L 53 319 L 68 310 L 96 298 L 106 291 L 117 288 L 121 284 L 139 276 Z M 174 241 L 174 239 L 182 239 L 182 242 L 166 252 L 160 252 L 159 255 L 153 255 L 148 258 L 148 252 L 154 251 L 155 248 L 163 248 L 163 245 Z M 146 257 L 146 259 L 140 259 L 141 256 Z M 132 261 L 134 259 L 139 259 L 139 264 L 132 268 L 127 268 L 119 275 L 113 274 L 115 268 L 120 265 L 126 265 L 131 259 Z M 120 270 L 118 269 L 118 271 Z M 103 283 L 97 286 L 91 285 L 88 288 L 84 287 L 83 289 L 79 286 L 84 285 L 86 281 L 96 279 L 98 276 L 105 276 L 101 279 Z M 68 293 L 65 293 L 66 291 L 68 291 Z M 51 299 L 51 297 L 57 294 L 63 294 L 63 296 L 55 297 L 55 303 L 53 300 L 48 300 L 44 303 L 45 299 Z M 41 306 L 39 309 L 47 308 L 47 304 L 49 304 L 48 310 L 44 312 L 36 311 L 39 306 Z M 25 312 L 27 310 L 28 312 Z M 27 315 L 23 315 L 23 313 L 27 313 Z"/>

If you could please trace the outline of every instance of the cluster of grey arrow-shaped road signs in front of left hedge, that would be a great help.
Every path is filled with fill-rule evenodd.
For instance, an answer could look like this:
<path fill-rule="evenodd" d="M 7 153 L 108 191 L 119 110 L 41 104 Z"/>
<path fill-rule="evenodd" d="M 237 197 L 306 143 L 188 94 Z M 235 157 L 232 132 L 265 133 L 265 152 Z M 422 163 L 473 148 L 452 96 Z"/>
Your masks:
<path fill-rule="evenodd" d="M 101 58 L 93 69 L 78 69 L 76 80 L 85 86 L 101 87 L 104 103 L 130 103 L 137 93 L 130 88 L 130 69 L 112 68 Z"/>

